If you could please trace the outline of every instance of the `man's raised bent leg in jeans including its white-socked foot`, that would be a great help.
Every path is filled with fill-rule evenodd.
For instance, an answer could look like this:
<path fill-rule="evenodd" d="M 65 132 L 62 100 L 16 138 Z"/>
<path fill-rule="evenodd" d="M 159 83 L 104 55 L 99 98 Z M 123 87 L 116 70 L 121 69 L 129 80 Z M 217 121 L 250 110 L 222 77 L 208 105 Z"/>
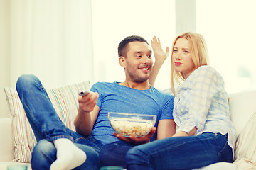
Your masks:
<path fill-rule="evenodd" d="M 33 75 L 23 75 L 16 89 L 36 140 L 46 139 L 57 149 L 57 160 L 50 169 L 73 169 L 85 162 L 85 152 L 73 144 L 70 130 L 55 112 L 41 81 Z"/>

